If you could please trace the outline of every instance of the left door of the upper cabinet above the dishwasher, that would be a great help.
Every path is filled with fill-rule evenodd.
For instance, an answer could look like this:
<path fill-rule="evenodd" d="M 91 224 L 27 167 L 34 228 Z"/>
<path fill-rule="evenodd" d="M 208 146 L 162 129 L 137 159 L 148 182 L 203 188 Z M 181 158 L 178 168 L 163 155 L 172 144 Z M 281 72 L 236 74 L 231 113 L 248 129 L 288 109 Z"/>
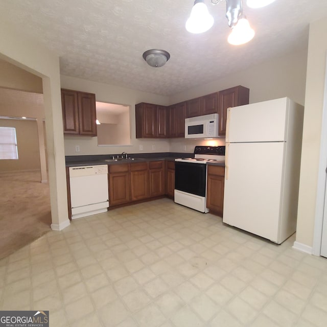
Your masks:
<path fill-rule="evenodd" d="M 61 107 L 64 134 L 79 134 L 77 92 L 62 89 Z"/>

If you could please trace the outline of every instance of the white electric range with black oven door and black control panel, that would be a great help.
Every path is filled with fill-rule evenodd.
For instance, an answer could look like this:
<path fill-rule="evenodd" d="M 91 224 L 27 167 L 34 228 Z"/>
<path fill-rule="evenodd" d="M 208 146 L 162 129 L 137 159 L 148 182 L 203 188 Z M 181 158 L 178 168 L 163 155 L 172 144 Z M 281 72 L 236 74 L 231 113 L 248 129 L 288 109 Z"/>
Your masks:
<path fill-rule="evenodd" d="M 202 213 L 206 207 L 207 162 L 225 161 L 225 146 L 196 146 L 194 158 L 175 159 L 175 202 Z"/>

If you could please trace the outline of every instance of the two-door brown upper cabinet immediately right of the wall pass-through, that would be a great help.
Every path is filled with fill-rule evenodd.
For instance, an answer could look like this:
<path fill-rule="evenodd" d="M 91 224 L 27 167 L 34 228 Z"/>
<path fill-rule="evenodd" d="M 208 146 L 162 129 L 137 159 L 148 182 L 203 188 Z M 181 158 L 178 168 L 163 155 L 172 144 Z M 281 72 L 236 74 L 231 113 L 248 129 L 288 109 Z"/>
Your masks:
<path fill-rule="evenodd" d="M 167 137 L 167 108 L 152 103 L 138 103 L 135 105 L 135 124 L 136 138 Z"/>

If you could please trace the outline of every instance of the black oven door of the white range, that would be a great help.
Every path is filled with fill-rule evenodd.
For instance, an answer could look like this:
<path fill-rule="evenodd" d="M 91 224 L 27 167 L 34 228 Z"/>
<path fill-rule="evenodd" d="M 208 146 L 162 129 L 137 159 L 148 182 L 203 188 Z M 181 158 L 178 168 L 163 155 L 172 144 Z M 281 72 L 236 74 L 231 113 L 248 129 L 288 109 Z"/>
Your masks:
<path fill-rule="evenodd" d="M 206 164 L 175 161 L 175 190 L 205 197 Z"/>

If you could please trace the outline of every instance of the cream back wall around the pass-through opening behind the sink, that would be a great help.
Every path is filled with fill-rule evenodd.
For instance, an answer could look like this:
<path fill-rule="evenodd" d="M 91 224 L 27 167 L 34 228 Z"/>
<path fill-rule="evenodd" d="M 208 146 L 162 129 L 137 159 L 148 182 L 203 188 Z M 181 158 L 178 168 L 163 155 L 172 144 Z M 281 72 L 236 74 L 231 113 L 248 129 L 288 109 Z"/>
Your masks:
<path fill-rule="evenodd" d="M 130 106 L 130 146 L 98 147 L 97 137 L 65 135 L 65 155 L 118 154 L 124 151 L 127 153 L 169 152 L 168 140 L 135 138 L 135 104 L 147 102 L 165 106 L 169 105 L 168 97 L 68 76 L 61 76 L 61 87 L 95 93 L 96 100 L 99 102 Z M 76 145 L 79 145 L 80 152 L 75 152 Z M 139 146 L 142 146 L 143 150 L 139 150 Z"/>

